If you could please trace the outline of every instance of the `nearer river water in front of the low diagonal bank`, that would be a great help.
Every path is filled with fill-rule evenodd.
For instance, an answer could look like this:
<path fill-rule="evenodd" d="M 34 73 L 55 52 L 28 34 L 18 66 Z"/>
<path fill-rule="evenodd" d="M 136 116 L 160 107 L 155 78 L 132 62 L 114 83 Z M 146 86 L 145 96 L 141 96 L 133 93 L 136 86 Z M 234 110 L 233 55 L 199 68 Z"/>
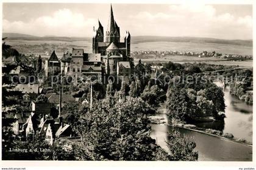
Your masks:
<path fill-rule="evenodd" d="M 168 151 L 165 143 L 167 140 L 166 132 L 171 130 L 172 127 L 151 124 L 151 128 L 151 137 L 156 139 L 157 144 Z M 178 128 L 177 130 L 194 138 L 196 142 L 195 150 L 199 152 L 199 161 L 252 161 L 252 147 L 250 146 L 186 129 Z"/>

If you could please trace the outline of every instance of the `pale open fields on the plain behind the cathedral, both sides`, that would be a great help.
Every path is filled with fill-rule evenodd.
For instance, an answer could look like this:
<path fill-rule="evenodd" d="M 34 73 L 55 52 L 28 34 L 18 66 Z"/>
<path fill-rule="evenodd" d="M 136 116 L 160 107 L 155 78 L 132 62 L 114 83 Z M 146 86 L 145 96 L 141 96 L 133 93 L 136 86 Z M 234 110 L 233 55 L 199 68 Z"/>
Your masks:
<path fill-rule="evenodd" d="M 19 36 L 19 37 L 13 37 Z M 76 37 L 29 37 L 28 35 L 12 35 L 5 40 L 7 44 L 13 46 L 22 54 L 35 54 L 48 58 L 55 50 L 60 58 L 65 51 L 72 51 L 72 48 L 82 48 L 85 52 L 91 52 L 91 38 Z M 213 38 L 184 38 L 184 37 L 132 37 L 131 51 L 190 51 L 203 52 L 215 51 L 223 54 L 252 55 L 251 40 L 217 40 Z M 147 56 L 143 56 L 147 57 Z M 135 58 L 138 62 L 139 58 Z M 165 57 L 155 57 L 149 55 L 148 58 L 141 58 L 143 62 L 204 62 L 220 65 L 239 65 L 252 67 L 252 60 L 230 61 L 222 58 L 199 58 L 195 56 L 169 55 Z"/>

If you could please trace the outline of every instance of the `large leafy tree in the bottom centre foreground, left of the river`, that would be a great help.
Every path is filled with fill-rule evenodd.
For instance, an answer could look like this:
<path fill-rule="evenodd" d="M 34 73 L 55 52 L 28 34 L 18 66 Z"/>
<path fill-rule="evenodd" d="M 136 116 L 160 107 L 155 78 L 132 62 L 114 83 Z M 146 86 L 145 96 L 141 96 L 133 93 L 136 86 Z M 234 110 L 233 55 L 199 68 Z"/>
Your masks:
<path fill-rule="evenodd" d="M 79 119 L 88 155 L 92 160 L 152 160 L 147 116 L 152 109 L 140 98 L 114 103 L 98 102 Z"/>

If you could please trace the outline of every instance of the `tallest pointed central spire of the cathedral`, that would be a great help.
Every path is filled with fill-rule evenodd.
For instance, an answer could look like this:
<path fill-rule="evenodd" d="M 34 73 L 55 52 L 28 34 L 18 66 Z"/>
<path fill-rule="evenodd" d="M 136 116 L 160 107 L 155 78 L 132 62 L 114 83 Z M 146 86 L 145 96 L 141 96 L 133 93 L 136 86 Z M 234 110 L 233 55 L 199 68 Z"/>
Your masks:
<path fill-rule="evenodd" d="M 110 15 L 108 18 L 108 26 L 106 31 L 106 39 L 107 43 L 119 43 L 120 41 L 120 29 L 118 24 L 114 19 L 112 5 L 110 6 Z"/>

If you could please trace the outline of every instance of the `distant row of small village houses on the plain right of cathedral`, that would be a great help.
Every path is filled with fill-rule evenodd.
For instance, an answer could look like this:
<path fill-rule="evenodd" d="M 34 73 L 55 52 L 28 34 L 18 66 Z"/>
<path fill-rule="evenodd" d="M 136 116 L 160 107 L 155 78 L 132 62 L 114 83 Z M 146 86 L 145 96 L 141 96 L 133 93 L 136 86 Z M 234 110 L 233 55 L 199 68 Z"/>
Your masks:
<path fill-rule="evenodd" d="M 236 58 L 251 60 L 252 55 L 238 55 L 238 54 L 221 54 L 213 52 L 179 52 L 179 51 L 134 51 L 130 55 L 135 58 L 140 58 L 143 55 L 155 55 L 156 57 L 165 57 L 166 55 L 184 55 L 184 56 L 196 56 L 196 57 L 215 57 L 215 58 Z"/>

